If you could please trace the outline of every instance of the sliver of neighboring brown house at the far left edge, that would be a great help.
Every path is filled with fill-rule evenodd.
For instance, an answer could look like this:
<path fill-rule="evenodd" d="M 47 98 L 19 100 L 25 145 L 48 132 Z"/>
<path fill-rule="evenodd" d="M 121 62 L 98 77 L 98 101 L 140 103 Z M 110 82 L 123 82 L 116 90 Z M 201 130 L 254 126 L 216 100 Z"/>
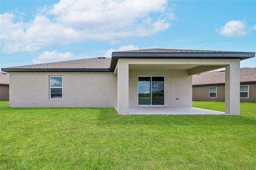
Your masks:
<path fill-rule="evenodd" d="M 0 101 L 9 100 L 9 73 L 0 72 Z"/>

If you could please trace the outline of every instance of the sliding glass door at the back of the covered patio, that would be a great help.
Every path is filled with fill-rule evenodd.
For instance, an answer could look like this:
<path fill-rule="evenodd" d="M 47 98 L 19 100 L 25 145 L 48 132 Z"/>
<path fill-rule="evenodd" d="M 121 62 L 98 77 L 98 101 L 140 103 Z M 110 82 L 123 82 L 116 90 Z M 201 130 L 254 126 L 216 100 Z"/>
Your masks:
<path fill-rule="evenodd" d="M 138 104 L 164 105 L 164 77 L 138 78 Z"/>

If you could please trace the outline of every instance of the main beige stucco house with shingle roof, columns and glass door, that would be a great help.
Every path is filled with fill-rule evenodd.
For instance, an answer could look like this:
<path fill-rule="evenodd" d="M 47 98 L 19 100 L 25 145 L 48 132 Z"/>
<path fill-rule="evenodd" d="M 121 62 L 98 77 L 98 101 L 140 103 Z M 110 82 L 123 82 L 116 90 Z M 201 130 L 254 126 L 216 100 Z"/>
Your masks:
<path fill-rule="evenodd" d="M 226 67 L 226 114 L 238 115 L 240 61 L 255 53 L 142 49 L 111 58 L 4 68 L 10 107 L 192 107 L 192 75 Z"/>

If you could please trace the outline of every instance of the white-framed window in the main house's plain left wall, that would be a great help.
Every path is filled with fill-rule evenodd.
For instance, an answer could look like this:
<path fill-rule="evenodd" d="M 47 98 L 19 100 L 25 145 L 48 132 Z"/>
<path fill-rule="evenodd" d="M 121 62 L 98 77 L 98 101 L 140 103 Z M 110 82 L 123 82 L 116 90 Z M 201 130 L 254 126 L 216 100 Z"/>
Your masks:
<path fill-rule="evenodd" d="M 50 99 L 62 99 L 62 76 L 50 76 Z"/>

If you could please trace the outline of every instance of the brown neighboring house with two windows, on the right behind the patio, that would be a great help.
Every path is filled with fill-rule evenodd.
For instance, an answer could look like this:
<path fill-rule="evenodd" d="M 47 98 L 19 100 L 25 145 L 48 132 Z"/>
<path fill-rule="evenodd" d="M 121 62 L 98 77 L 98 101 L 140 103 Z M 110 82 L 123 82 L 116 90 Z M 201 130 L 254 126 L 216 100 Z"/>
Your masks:
<path fill-rule="evenodd" d="M 193 75 L 193 100 L 225 101 L 225 70 Z M 256 101 L 256 68 L 240 69 L 240 101 Z"/>

